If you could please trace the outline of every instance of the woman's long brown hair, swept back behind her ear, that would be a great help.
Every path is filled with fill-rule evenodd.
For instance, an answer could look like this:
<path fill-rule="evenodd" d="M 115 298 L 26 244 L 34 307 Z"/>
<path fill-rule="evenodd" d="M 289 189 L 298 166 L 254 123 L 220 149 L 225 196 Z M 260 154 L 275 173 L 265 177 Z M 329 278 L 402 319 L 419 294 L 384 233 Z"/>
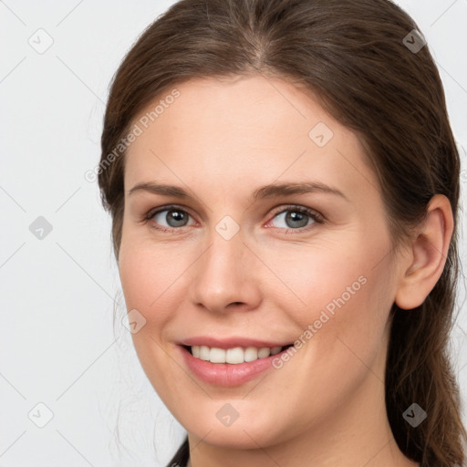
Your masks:
<path fill-rule="evenodd" d="M 118 260 L 125 166 L 119 142 L 141 109 L 191 78 L 262 73 L 303 85 L 358 134 L 379 178 L 394 245 L 423 220 L 431 197 L 444 194 L 451 202 L 454 233 L 441 278 L 421 306 L 391 309 L 386 407 L 400 451 L 421 467 L 454 467 L 462 465 L 467 438 L 448 351 L 459 269 L 460 160 L 430 51 L 410 49 L 403 41 L 413 29 L 417 25 L 410 16 L 388 0 L 172 5 L 140 36 L 113 79 L 99 188 L 112 216 Z M 117 155 L 104 167 L 110 153 Z M 413 402 L 428 413 L 416 428 L 402 417 Z M 186 462 L 186 441 L 180 453 L 173 462 Z"/>

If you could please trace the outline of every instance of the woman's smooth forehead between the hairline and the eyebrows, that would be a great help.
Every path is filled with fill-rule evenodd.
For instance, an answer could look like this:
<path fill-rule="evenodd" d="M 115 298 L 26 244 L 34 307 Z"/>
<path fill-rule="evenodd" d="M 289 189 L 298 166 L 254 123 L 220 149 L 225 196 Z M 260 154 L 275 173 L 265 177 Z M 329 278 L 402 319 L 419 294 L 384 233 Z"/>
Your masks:
<path fill-rule="evenodd" d="M 372 176 L 357 136 L 290 82 L 196 78 L 174 88 L 176 99 L 169 89 L 134 119 L 142 132 L 127 150 L 128 183 L 312 177 L 352 190 Z"/>

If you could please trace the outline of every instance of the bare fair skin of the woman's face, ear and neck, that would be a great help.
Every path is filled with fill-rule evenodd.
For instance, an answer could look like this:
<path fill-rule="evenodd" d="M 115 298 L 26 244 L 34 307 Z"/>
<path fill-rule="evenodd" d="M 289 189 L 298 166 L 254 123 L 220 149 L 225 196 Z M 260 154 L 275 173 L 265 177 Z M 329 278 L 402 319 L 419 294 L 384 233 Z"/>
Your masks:
<path fill-rule="evenodd" d="M 419 465 L 398 449 L 386 414 L 389 310 L 419 306 L 439 279 L 452 233 L 448 200 L 431 200 L 396 254 L 357 136 L 309 92 L 260 75 L 197 78 L 177 89 L 181 96 L 127 152 L 119 274 L 128 310 L 146 319 L 132 334 L 141 366 L 188 431 L 190 465 Z M 324 147 L 308 136 L 318 122 L 334 133 Z M 250 200 L 269 183 L 307 181 L 347 200 L 325 192 Z M 190 196 L 130 194 L 139 182 Z M 190 214 L 185 226 L 167 223 L 167 212 L 142 220 L 171 204 Z M 289 204 L 326 222 L 306 217 L 294 230 L 280 214 Z M 240 227 L 230 240 L 215 230 L 226 215 Z M 175 345 L 200 335 L 294 342 L 360 276 L 366 284 L 293 358 L 243 385 L 197 379 Z M 227 427 L 216 417 L 225 403 L 239 414 Z"/>

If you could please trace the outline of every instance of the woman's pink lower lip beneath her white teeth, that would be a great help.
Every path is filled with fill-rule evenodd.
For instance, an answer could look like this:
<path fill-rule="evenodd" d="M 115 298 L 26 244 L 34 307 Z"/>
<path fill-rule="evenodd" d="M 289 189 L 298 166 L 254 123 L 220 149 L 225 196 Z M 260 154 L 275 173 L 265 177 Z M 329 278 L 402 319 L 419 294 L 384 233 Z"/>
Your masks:
<path fill-rule="evenodd" d="M 179 347 L 188 368 L 195 376 L 209 384 L 223 387 L 240 386 L 266 370 L 274 368 L 273 359 L 280 358 L 282 353 L 286 351 L 285 349 L 267 358 L 258 358 L 254 361 L 233 365 L 230 363 L 211 363 L 201 358 L 195 358 L 186 348 Z"/>

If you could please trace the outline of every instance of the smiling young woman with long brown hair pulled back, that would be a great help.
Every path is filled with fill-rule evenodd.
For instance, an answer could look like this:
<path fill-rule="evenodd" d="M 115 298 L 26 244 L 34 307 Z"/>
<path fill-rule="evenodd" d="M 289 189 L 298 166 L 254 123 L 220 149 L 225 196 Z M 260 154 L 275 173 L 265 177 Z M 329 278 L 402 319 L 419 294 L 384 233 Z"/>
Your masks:
<path fill-rule="evenodd" d="M 459 155 L 387 0 L 182 0 L 109 94 L 99 187 L 169 465 L 462 465 Z"/>

